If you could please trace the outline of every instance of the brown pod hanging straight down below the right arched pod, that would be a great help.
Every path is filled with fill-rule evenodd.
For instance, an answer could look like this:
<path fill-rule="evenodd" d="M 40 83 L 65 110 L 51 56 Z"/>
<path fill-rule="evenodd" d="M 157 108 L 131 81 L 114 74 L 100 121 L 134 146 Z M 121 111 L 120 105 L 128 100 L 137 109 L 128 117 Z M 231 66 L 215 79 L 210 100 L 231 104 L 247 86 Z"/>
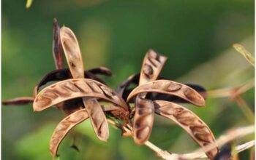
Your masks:
<path fill-rule="evenodd" d="M 133 123 L 133 139 L 143 145 L 150 137 L 154 122 L 154 103 L 138 96 Z"/>

